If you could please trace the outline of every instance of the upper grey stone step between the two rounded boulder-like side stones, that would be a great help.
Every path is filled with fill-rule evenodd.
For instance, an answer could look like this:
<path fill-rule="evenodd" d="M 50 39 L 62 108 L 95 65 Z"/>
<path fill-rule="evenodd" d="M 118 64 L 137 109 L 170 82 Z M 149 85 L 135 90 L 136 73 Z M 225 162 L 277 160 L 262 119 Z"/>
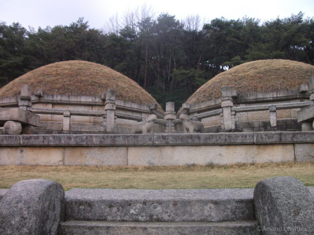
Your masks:
<path fill-rule="evenodd" d="M 71 189 L 66 220 L 223 222 L 253 220 L 253 189 Z"/>

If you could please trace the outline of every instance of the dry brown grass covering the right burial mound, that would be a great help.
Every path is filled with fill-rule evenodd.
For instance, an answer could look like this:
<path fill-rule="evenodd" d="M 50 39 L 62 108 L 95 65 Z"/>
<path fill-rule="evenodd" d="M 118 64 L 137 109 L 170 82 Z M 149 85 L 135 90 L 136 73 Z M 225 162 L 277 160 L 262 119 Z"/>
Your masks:
<path fill-rule="evenodd" d="M 221 96 L 220 87 L 230 86 L 240 93 L 283 91 L 308 84 L 314 66 L 291 60 L 257 60 L 218 74 L 201 86 L 187 103 L 200 103 Z"/>

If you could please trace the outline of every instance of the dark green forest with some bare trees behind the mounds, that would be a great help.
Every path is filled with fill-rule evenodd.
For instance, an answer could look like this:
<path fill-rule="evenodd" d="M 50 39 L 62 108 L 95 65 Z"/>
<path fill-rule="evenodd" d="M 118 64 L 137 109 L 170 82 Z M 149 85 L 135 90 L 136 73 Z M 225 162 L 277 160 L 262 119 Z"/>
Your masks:
<path fill-rule="evenodd" d="M 314 64 L 314 19 L 302 12 L 263 23 L 255 18 L 179 21 L 150 9 L 113 17 L 106 31 L 79 18 L 68 26 L 25 29 L 0 22 L 0 87 L 43 65 L 86 60 L 136 81 L 176 110 L 201 85 L 247 61 L 287 59 Z"/>

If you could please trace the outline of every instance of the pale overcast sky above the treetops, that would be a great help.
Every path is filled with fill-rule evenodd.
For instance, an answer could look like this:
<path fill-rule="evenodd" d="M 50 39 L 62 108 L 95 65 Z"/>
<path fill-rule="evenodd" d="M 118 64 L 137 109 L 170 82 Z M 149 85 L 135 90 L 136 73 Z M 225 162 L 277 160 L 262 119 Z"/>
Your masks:
<path fill-rule="evenodd" d="M 0 21 L 7 24 L 19 22 L 28 29 L 32 26 L 45 28 L 55 25 L 69 25 L 84 17 L 90 28 L 104 29 L 109 18 L 118 13 L 122 16 L 128 9 L 133 10 L 146 3 L 157 13 L 168 12 L 176 15 L 176 19 L 184 19 L 188 15 L 198 14 L 211 19 L 225 17 L 237 19 L 243 16 L 264 20 L 285 18 L 300 11 L 305 16 L 314 16 L 314 0 L 0 0 Z"/>

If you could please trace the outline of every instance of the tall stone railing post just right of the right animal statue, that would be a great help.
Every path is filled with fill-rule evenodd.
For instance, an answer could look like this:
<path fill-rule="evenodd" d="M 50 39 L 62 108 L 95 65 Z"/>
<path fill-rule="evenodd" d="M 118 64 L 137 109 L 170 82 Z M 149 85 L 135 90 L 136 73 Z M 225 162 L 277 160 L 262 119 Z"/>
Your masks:
<path fill-rule="evenodd" d="M 232 102 L 232 92 L 230 86 L 221 87 L 221 107 L 223 111 L 224 129 L 232 129 L 232 117 L 231 117 L 231 107 L 233 107 Z"/>

